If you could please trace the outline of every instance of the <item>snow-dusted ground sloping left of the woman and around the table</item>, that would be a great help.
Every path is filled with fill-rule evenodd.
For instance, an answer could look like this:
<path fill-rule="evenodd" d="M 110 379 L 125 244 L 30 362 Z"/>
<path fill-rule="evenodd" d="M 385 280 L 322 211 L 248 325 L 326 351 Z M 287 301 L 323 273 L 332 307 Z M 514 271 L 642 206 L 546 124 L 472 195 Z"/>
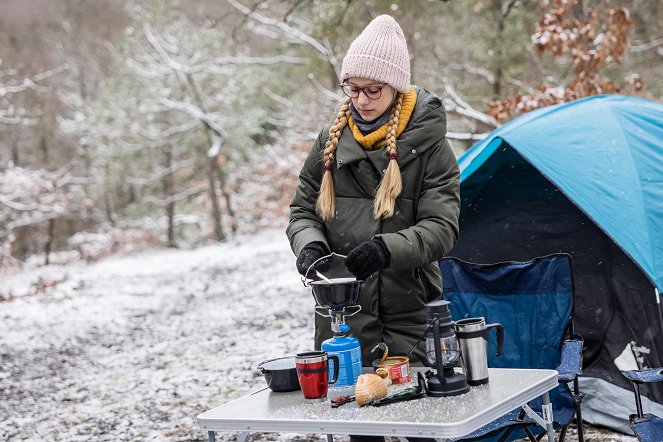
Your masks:
<path fill-rule="evenodd" d="M 315 303 L 283 229 L 0 275 L 0 297 L 10 295 L 0 440 L 204 441 L 198 414 L 262 388 L 260 361 L 313 345 Z M 587 440 L 634 440 L 591 431 Z"/>

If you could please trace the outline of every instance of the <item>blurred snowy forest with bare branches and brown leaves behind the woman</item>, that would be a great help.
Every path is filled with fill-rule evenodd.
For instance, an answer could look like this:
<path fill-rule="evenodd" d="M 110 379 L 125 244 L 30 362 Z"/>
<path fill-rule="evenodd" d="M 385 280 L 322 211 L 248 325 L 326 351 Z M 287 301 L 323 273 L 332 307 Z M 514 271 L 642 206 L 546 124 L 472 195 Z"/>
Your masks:
<path fill-rule="evenodd" d="M 659 0 L 1 0 L 0 271 L 285 227 L 381 13 L 458 155 L 533 108 L 663 99 Z"/>

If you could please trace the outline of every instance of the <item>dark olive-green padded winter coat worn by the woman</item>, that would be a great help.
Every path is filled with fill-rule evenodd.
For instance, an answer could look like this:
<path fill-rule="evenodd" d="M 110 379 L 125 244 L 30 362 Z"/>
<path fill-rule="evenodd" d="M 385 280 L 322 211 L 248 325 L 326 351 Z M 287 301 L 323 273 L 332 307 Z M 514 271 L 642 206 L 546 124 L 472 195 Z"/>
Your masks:
<path fill-rule="evenodd" d="M 445 141 L 446 114 L 440 98 L 418 88 L 412 116 L 396 140 L 403 190 L 394 216 L 373 217 L 374 195 L 389 161 L 385 149 L 364 150 L 346 127 L 332 164 L 336 216 L 324 222 L 316 215 L 315 204 L 328 133 L 329 126 L 318 136 L 301 170 L 286 233 L 295 255 L 314 241 L 342 255 L 372 238 L 387 245 L 389 267 L 362 284 L 362 310 L 346 319 L 359 338 L 363 364 L 370 366 L 382 356 L 381 351 L 371 354 L 376 344 L 384 342 L 390 355 L 404 356 L 426 330 L 424 305 L 442 293 L 437 261 L 458 237 L 458 164 Z M 315 348 L 331 336 L 329 319 L 315 315 Z M 425 360 L 423 341 L 411 359 Z"/>

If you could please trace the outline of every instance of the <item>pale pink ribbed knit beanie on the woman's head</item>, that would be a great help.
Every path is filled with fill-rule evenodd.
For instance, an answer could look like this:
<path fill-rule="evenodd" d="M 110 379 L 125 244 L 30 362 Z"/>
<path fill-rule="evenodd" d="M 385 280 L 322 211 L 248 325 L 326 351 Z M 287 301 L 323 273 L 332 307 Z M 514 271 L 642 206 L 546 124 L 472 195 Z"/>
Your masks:
<path fill-rule="evenodd" d="M 390 15 L 380 15 L 352 42 L 343 58 L 341 80 L 370 78 L 399 92 L 410 87 L 410 55 L 403 30 Z"/>

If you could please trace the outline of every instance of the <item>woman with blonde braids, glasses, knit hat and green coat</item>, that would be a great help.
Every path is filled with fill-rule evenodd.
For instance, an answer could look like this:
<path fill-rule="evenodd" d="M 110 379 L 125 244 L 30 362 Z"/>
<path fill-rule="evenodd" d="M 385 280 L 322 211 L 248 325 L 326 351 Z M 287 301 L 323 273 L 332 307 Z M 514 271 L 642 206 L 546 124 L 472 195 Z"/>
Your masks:
<path fill-rule="evenodd" d="M 459 172 L 442 102 L 410 86 L 405 36 L 391 16 L 352 42 L 341 76 L 348 99 L 304 163 L 287 235 L 301 274 L 336 252 L 365 279 L 362 309 L 347 323 L 370 366 L 376 344 L 406 355 L 426 330 L 424 305 L 442 292 L 437 261 L 458 236 Z M 316 348 L 331 335 L 316 315 Z M 423 343 L 411 359 L 425 360 Z"/>

